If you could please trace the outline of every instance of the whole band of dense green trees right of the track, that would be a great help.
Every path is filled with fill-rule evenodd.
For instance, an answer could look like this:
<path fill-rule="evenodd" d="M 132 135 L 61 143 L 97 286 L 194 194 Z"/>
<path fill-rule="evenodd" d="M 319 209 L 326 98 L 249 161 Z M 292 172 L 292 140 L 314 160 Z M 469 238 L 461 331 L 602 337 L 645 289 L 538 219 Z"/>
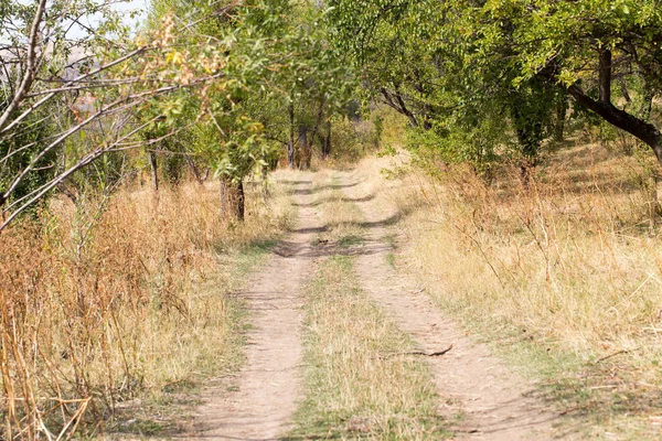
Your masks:
<path fill-rule="evenodd" d="M 481 173 L 514 160 L 526 180 L 570 120 L 618 128 L 662 162 L 656 0 L 328 3 L 335 42 L 420 153 Z"/>

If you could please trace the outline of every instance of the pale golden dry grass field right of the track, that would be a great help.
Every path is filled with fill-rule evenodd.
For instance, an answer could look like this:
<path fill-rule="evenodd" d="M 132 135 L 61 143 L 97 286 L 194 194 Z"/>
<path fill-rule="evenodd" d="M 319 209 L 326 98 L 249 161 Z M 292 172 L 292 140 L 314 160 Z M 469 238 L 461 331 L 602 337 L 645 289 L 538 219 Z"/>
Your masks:
<path fill-rule="evenodd" d="M 389 161 L 359 173 L 408 215 L 412 261 L 439 304 L 546 378 L 566 410 L 591 413 L 591 435 L 656 439 L 662 247 L 641 162 L 579 144 L 525 189 L 514 168 L 485 184 Z"/>

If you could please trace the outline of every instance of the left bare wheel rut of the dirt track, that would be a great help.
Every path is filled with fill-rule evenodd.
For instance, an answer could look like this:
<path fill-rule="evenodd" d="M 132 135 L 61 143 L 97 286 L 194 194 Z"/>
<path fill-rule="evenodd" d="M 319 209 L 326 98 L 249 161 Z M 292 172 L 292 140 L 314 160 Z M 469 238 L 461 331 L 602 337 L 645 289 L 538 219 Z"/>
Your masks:
<path fill-rule="evenodd" d="M 310 180 L 290 181 L 299 211 L 298 229 L 274 250 L 249 290 L 245 367 L 232 385 L 210 388 L 189 439 L 274 440 L 290 428 L 299 397 L 301 282 L 310 272 L 310 241 L 320 228 Z M 228 391 L 229 390 L 229 391 Z"/>

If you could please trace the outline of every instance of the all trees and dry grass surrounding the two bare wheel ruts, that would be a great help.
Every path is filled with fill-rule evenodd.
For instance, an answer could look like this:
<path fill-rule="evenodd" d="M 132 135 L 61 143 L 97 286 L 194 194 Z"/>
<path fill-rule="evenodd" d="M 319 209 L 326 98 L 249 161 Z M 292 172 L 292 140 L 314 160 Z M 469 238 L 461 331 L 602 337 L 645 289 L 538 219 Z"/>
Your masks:
<path fill-rule="evenodd" d="M 151 0 L 136 29 L 116 3 L 0 4 L 4 439 L 103 433 L 150 394 L 236 367 L 243 309 L 226 294 L 293 218 L 273 173 L 322 169 L 320 250 L 364 239 L 324 166 L 374 180 L 410 245 L 388 262 L 590 421 L 580 433 L 660 433 L 658 0 Z M 328 391 L 312 413 L 354 397 L 380 433 L 437 430 L 408 432 L 415 399 L 430 421 L 419 366 L 372 364 L 407 343 L 351 259 L 320 271 L 311 341 L 372 353 L 346 397 L 311 376 Z M 364 335 L 314 334 L 337 319 Z M 373 368 L 412 395 L 370 396 Z M 302 433 L 350 433 L 340 410 L 312 413 Z"/>

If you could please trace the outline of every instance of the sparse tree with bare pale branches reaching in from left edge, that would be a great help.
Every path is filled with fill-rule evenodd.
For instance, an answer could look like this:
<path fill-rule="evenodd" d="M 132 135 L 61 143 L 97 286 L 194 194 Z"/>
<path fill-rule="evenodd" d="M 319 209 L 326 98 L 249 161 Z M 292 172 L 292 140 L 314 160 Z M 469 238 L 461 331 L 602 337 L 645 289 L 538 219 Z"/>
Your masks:
<path fill-rule="evenodd" d="M 149 42 L 130 39 L 113 3 L 12 1 L 0 10 L 0 229 L 98 158 L 139 146 L 152 121 L 127 123 L 131 110 L 223 76 L 221 55 L 179 68 L 172 22 Z M 90 15 L 100 20 L 84 23 Z M 98 142 L 61 160 L 67 140 L 86 131 Z"/>

